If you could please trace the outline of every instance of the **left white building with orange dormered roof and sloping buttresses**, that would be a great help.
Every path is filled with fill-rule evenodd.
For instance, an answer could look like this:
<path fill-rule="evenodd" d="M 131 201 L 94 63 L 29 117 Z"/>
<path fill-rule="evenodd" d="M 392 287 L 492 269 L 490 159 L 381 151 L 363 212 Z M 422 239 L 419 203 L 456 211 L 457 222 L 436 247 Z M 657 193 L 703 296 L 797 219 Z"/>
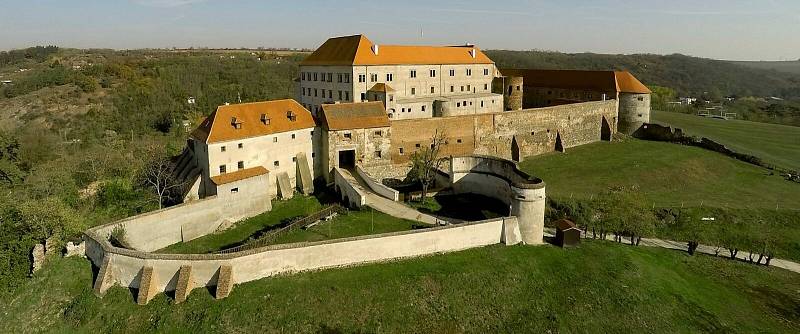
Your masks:
<path fill-rule="evenodd" d="M 204 198 L 239 192 L 241 184 L 266 186 L 270 197 L 290 197 L 295 188 L 310 193 L 314 127 L 311 113 L 291 99 L 219 106 L 192 132 L 200 169 L 193 191 Z M 265 174 L 266 185 L 250 182 Z"/>

